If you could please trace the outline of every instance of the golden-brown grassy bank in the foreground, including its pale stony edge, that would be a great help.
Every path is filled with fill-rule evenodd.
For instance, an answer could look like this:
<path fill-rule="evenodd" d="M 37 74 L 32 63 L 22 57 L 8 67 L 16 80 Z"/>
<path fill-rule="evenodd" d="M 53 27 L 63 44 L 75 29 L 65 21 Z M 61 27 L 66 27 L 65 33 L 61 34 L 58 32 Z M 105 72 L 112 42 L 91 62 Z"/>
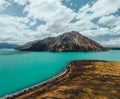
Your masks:
<path fill-rule="evenodd" d="M 119 99 L 120 62 L 72 61 L 58 76 L 7 99 Z"/>

